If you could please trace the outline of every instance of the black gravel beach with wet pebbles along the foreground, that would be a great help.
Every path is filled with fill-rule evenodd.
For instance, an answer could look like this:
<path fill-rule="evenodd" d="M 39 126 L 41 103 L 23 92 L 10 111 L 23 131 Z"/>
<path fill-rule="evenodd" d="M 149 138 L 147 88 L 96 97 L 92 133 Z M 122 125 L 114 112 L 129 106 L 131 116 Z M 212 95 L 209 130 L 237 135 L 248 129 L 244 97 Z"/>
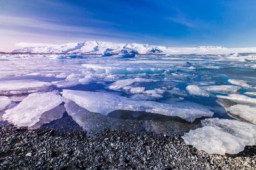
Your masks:
<path fill-rule="evenodd" d="M 209 155 L 178 135 L 0 127 L 0 169 L 256 169 L 256 146 Z"/>

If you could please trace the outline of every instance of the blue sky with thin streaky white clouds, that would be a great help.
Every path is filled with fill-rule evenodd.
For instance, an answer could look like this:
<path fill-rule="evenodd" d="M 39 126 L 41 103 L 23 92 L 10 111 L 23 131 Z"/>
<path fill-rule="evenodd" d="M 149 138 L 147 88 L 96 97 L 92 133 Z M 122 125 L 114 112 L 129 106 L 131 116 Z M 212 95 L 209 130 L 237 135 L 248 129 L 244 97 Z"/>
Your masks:
<path fill-rule="evenodd" d="M 0 51 L 79 41 L 256 46 L 255 0 L 0 0 Z"/>

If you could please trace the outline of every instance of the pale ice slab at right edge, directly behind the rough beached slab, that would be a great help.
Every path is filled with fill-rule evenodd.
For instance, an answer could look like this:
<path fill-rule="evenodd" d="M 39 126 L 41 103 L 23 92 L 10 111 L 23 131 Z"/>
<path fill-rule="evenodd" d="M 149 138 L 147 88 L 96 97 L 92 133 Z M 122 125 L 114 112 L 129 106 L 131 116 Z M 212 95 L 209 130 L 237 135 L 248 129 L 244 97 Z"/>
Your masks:
<path fill-rule="evenodd" d="M 227 111 L 256 125 L 256 107 L 236 104 L 227 108 Z"/>

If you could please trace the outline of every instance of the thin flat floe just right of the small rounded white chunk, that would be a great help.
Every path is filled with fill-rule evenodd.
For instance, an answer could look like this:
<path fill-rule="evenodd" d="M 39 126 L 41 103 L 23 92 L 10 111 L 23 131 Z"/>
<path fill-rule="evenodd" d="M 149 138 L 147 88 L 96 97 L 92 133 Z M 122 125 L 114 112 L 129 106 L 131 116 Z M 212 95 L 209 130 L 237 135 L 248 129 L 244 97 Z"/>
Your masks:
<path fill-rule="evenodd" d="M 202 89 L 207 90 L 208 92 L 232 94 L 240 90 L 240 87 L 234 85 L 211 85 L 202 87 Z"/>

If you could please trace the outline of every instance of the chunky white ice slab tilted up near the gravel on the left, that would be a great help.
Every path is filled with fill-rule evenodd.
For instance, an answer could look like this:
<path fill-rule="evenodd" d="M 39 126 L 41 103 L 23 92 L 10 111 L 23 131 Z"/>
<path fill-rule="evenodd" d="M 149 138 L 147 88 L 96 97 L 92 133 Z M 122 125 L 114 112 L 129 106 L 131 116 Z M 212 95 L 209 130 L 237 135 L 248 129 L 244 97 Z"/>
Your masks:
<path fill-rule="evenodd" d="M 20 127 L 32 127 L 47 111 L 51 111 L 62 103 L 62 98 L 56 92 L 33 93 L 23 99 L 17 106 L 6 110 L 3 118 Z M 53 113 L 56 110 L 52 110 Z M 51 115 L 51 114 L 47 114 Z M 57 115 L 57 118 L 59 115 Z M 46 119 L 45 119 L 46 120 Z M 44 120 L 44 123 L 47 121 Z"/>

